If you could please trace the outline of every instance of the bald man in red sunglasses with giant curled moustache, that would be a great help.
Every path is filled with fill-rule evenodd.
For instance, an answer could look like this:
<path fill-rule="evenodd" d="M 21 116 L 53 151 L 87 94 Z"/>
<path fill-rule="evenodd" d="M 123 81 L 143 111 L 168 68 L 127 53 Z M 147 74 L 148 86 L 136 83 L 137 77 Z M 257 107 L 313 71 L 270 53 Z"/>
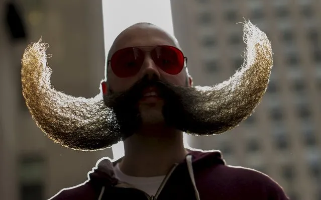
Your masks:
<path fill-rule="evenodd" d="M 248 25 L 247 28 L 252 34 L 255 33 L 253 25 Z M 198 135 L 223 133 L 249 115 L 249 111 L 240 109 L 241 103 L 237 99 L 230 101 L 227 92 L 243 95 L 244 100 L 249 95 L 246 92 L 253 86 L 256 92 L 252 94 L 258 95 L 255 98 L 257 105 L 266 89 L 272 59 L 271 52 L 262 53 L 256 45 L 248 44 L 248 53 L 256 51 L 256 59 L 260 63 L 266 63 L 268 67 L 265 70 L 260 68 L 262 66 L 248 69 L 254 70 L 256 67 L 260 77 L 247 79 L 250 80 L 245 81 L 250 82 L 247 84 L 242 82 L 242 77 L 231 79 L 231 84 L 224 83 L 222 87 L 214 87 L 210 90 L 211 93 L 206 93 L 206 88 L 199 91 L 192 87 L 192 78 L 186 68 L 187 59 L 173 36 L 152 24 L 133 25 L 124 30 L 113 43 L 106 65 L 106 79 L 101 82 L 104 106 L 111 108 L 113 115 L 111 110 L 105 111 L 99 106 L 94 110 L 92 104 L 85 104 L 85 99 L 76 104 L 76 100 L 70 96 L 54 93 L 49 88 L 49 82 L 47 86 L 39 86 L 41 84 L 35 79 L 28 79 L 30 76 L 25 75 L 31 73 L 27 72 L 28 66 L 38 65 L 40 62 L 43 64 L 44 60 L 39 57 L 44 56 L 44 52 L 40 51 L 38 55 L 31 49 L 28 54 L 27 50 L 22 71 L 24 96 L 38 126 L 51 139 L 80 150 L 104 148 L 124 140 L 123 158 L 113 163 L 108 158 L 100 159 L 96 168 L 88 173 L 86 182 L 63 189 L 52 199 L 288 199 L 282 188 L 267 175 L 252 169 L 228 166 L 220 151 L 202 152 L 186 149 L 183 145 L 183 131 Z M 36 56 L 32 57 L 30 54 Z M 261 60 L 260 56 L 263 56 Z M 247 61 L 249 65 L 252 63 L 251 60 Z M 245 74 L 244 77 L 251 76 L 246 76 L 246 70 L 242 73 Z M 265 77 L 264 81 L 260 79 L 262 77 Z M 236 80 L 239 82 L 233 86 L 232 83 Z M 31 86 L 27 82 L 33 84 L 33 81 L 40 89 L 28 90 Z M 246 84 L 246 89 L 241 88 L 240 85 L 243 84 Z M 229 89 L 224 90 L 226 85 L 230 85 Z M 257 90 L 257 85 L 261 86 L 260 90 Z M 39 115 L 39 108 L 44 104 L 39 104 L 52 101 L 50 98 L 56 100 L 41 112 L 47 112 L 50 116 L 54 113 L 53 107 L 58 107 L 62 98 L 62 101 L 70 104 L 60 105 L 63 108 L 60 113 L 74 104 L 78 110 L 84 108 L 88 113 L 96 115 L 81 114 L 82 118 L 95 120 L 87 123 L 88 126 L 80 124 L 72 131 L 69 130 L 70 126 L 82 123 L 77 121 L 78 115 L 74 115 L 72 119 L 71 116 L 64 115 L 63 120 L 50 116 L 48 122 L 44 123 L 46 115 Z M 212 107 L 216 104 L 213 102 L 217 105 Z M 86 108 L 83 104 L 87 105 Z M 249 106 L 250 112 L 254 107 Z M 77 109 L 70 113 L 75 112 Z M 237 117 L 239 113 L 247 114 Z M 215 120 L 212 115 L 215 115 Z M 101 119 L 104 121 L 98 122 Z M 52 125 L 55 123 L 55 126 Z M 79 131 L 79 127 L 83 128 Z M 61 131 L 64 129 L 66 131 Z M 87 130 L 94 132 L 87 133 Z M 100 135 L 94 135 L 96 133 Z M 81 135 L 85 138 L 81 138 Z"/>

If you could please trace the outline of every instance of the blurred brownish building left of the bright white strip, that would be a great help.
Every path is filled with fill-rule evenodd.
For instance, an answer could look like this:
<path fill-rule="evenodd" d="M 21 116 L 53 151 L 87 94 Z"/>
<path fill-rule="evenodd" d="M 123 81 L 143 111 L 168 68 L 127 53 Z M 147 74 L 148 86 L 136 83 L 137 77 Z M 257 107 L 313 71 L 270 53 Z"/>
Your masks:
<path fill-rule="evenodd" d="M 15 9 L 8 15 L 9 3 Z M 25 35 L 16 33 L 17 16 Z M 112 151 L 71 150 L 41 132 L 21 93 L 21 58 L 27 45 L 42 37 L 47 54 L 53 54 L 48 59 L 53 86 L 74 96 L 95 96 L 104 78 L 101 1 L 1 1 L 0 18 L 0 199 L 48 199 L 84 182 L 96 161 L 112 157 Z"/>

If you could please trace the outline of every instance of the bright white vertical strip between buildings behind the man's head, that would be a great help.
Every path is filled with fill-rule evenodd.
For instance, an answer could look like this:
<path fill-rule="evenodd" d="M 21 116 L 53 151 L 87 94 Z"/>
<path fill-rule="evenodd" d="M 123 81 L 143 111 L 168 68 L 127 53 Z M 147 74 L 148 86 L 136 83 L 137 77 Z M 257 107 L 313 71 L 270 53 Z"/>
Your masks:
<path fill-rule="evenodd" d="M 153 23 L 173 34 L 170 0 L 102 0 L 104 45 L 108 53 L 117 35 L 138 22 Z M 124 156 L 124 145 L 113 146 L 114 159 Z"/>

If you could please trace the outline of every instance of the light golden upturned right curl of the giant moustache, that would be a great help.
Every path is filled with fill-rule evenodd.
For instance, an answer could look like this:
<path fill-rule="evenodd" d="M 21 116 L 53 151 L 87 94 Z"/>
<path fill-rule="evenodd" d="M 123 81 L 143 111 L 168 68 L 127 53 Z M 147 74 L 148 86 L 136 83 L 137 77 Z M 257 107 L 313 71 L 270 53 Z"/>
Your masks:
<path fill-rule="evenodd" d="M 220 84 L 196 86 L 200 93 L 207 96 L 207 99 L 204 98 L 204 101 L 196 106 L 196 110 L 208 110 L 206 114 L 202 113 L 202 121 L 215 120 L 218 124 L 223 124 L 218 130 L 207 131 L 208 135 L 229 131 L 247 119 L 259 105 L 267 89 L 273 66 L 271 43 L 266 34 L 250 21 L 244 23 L 243 32 L 247 46 L 242 67 L 230 79 Z"/>

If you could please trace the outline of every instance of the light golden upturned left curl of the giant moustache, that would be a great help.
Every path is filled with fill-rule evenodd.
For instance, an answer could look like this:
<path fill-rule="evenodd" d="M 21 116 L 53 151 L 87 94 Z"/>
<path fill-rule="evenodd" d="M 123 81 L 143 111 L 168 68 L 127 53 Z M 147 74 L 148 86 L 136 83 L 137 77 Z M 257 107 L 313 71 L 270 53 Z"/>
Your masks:
<path fill-rule="evenodd" d="M 108 132 L 119 126 L 101 94 L 89 99 L 74 97 L 51 86 L 47 47 L 40 39 L 27 47 L 22 58 L 22 92 L 37 126 L 55 143 L 75 150 L 104 149 L 122 140 Z"/>

